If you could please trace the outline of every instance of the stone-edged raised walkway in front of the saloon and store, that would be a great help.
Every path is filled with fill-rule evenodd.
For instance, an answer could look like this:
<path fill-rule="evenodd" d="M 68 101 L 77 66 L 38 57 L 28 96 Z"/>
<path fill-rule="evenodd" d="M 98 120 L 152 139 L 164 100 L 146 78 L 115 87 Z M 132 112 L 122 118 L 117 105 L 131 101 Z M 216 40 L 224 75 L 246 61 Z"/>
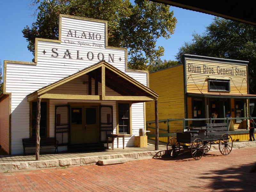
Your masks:
<path fill-rule="evenodd" d="M 40 161 L 36 161 L 35 155 L 5 155 L 0 156 L 0 172 L 16 172 L 24 170 L 36 170 L 45 168 L 61 168 L 70 166 L 83 166 L 96 164 L 99 160 L 125 158 L 126 161 L 152 158 L 165 155 L 166 144 L 159 142 L 159 150 L 155 151 L 155 141 L 148 140 L 148 146 L 143 148 L 126 147 L 114 148 L 104 151 L 91 151 L 84 153 L 60 152 L 58 154 L 42 154 Z M 233 148 L 256 146 L 255 141 L 233 142 Z M 210 151 L 219 151 L 218 145 L 213 145 Z M 220 153 L 220 151 L 219 151 Z"/>

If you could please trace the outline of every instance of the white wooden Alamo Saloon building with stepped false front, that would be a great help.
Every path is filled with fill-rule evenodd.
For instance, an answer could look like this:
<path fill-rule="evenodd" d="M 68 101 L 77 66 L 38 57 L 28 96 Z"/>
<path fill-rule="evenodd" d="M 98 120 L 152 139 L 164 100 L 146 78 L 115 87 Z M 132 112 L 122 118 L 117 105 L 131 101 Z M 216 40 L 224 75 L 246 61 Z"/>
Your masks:
<path fill-rule="evenodd" d="M 0 145 L 6 152 L 22 154 L 22 139 L 36 137 L 39 99 L 40 137 L 56 138 L 59 151 L 104 144 L 110 133 L 134 146 L 145 128 L 144 102 L 158 94 L 148 88 L 147 71 L 127 70 L 126 48 L 108 46 L 107 26 L 60 15 L 59 40 L 37 38 L 35 62 L 4 61 Z"/>

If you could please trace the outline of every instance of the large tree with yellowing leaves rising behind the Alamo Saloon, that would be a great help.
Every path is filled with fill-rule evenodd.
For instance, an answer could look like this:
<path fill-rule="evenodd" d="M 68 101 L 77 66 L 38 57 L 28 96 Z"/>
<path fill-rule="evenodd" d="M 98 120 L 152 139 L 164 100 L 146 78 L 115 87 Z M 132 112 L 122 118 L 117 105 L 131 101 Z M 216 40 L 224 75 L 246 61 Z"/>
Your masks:
<path fill-rule="evenodd" d="M 164 54 L 156 48 L 159 37 L 170 38 L 176 18 L 169 5 L 146 0 L 34 0 L 37 20 L 22 30 L 28 49 L 35 53 L 35 38 L 58 39 L 59 14 L 108 21 L 108 45 L 128 48 L 128 68 L 147 69 Z"/>

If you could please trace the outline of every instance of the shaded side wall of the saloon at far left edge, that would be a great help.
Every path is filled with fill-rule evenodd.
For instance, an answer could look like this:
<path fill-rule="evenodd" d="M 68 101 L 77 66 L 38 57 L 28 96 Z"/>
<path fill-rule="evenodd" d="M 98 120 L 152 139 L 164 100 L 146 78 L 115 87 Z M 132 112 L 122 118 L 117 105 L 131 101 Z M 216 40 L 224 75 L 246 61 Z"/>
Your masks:
<path fill-rule="evenodd" d="M 0 145 L 9 151 L 9 97 L 0 102 Z"/>

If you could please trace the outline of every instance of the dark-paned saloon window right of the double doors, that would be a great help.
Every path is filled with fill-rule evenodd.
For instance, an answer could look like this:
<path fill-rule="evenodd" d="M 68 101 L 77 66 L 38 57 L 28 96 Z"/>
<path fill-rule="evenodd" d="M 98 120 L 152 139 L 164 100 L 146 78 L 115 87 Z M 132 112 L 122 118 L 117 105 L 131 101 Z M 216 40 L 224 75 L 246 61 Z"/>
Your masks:
<path fill-rule="evenodd" d="M 130 104 L 118 103 L 118 131 L 130 134 Z"/>

